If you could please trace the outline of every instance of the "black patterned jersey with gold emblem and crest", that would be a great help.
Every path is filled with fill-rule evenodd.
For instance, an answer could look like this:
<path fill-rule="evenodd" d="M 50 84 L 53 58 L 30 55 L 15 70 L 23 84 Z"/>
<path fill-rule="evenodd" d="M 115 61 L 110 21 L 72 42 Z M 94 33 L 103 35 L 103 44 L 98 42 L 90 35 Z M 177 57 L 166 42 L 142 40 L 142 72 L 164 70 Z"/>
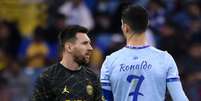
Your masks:
<path fill-rule="evenodd" d="M 71 71 L 54 64 L 36 82 L 32 101 L 101 101 L 101 88 L 96 74 L 82 67 Z"/>

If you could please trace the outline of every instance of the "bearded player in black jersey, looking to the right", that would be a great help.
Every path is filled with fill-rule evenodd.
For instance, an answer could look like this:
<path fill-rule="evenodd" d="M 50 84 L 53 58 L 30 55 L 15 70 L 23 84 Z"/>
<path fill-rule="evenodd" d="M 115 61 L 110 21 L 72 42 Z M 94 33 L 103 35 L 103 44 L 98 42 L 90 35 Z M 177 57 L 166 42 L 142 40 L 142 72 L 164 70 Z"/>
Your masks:
<path fill-rule="evenodd" d="M 32 101 L 101 101 L 99 79 L 86 66 L 93 50 L 87 32 L 71 25 L 59 34 L 61 61 L 38 78 Z"/>

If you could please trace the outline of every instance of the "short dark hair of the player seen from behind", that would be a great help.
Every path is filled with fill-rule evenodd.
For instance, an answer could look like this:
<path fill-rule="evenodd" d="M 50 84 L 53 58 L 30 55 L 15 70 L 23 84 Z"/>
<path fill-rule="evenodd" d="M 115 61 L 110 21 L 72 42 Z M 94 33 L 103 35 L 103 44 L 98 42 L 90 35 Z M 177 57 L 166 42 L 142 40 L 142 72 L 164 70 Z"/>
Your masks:
<path fill-rule="evenodd" d="M 135 33 L 145 32 L 148 26 L 148 13 L 139 5 L 129 5 L 122 12 L 123 23 L 128 24 Z"/>

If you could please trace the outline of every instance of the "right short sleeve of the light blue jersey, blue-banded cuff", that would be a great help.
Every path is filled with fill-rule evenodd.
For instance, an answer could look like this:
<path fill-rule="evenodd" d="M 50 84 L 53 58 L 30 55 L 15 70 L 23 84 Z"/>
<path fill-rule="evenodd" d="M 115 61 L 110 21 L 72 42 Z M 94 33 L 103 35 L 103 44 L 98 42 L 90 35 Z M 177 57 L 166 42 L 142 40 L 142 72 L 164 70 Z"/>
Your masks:
<path fill-rule="evenodd" d="M 168 66 L 167 77 L 166 77 L 167 83 L 180 81 L 177 65 L 173 57 L 167 53 L 165 61 L 167 62 Z"/>

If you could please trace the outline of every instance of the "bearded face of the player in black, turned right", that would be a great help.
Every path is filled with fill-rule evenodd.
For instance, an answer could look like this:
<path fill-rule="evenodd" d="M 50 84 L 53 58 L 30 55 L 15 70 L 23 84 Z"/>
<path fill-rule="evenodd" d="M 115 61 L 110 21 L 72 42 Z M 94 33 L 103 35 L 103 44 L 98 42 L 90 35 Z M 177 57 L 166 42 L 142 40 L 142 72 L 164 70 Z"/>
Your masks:
<path fill-rule="evenodd" d="M 72 56 L 74 57 L 74 61 L 80 65 L 88 64 L 92 50 L 91 41 L 87 34 L 77 33 L 76 40 L 72 44 Z"/>

